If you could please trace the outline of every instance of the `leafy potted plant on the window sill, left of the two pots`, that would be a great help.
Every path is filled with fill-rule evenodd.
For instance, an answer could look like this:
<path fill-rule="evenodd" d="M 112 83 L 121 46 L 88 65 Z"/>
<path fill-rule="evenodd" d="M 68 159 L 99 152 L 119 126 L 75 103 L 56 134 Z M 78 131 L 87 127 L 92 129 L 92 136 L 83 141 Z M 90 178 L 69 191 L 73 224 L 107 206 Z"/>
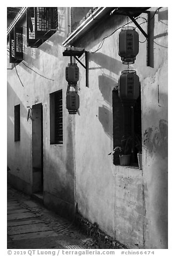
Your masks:
<path fill-rule="evenodd" d="M 133 137 L 132 136 L 123 136 L 121 139 L 121 146 L 117 146 L 114 150 L 108 155 L 114 154 L 115 151 L 119 152 L 120 165 L 129 165 L 130 156 L 132 150 Z"/>

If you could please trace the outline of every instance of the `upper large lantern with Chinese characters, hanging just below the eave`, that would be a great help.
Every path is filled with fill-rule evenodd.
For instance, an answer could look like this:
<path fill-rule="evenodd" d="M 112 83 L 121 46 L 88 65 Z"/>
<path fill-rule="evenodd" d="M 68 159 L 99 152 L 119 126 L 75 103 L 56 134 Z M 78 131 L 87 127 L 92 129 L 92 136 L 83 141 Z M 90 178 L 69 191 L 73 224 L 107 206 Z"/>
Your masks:
<path fill-rule="evenodd" d="M 123 27 L 119 33 L 119 56 L 123 64 L 133 64 L 139 50 L 138 33 L 135 27 Z"/>

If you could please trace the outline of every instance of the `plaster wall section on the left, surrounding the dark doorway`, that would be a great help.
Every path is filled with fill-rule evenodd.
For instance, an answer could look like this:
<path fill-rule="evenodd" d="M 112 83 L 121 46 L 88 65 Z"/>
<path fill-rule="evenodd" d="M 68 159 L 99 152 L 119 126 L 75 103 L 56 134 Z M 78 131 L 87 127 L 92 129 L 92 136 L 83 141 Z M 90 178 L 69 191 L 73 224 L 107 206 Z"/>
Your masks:
<path fill-rule="evenodd" d="M 52 37 L 38 48 L 26 46 L 24 22 L 24 63 L 8 70 L 8 165 L 10 173 L 32 185 L 32 121 L 27 121 L 27 106 L 43 105 L 43 190 L 46 205 L 60 210 L 68 217 L 74 214 L 74 116 L 65 109 L 65 66 L 63 40 L 67 37 L 67 8 L 59 10 L 59 27 Z M 42 77 L 37 73 L 41 74 Z M 9 65 L 10 66 L 10 65 Z M 14 67 L 14 66 L 13 66 Z M 63 95 L 63 145 L 50 145 L 49 94 L 62 89 Z M 21 104 L 21 139 L 14 142 L 14 105 Z M 18 170 L 19 169 L 19 170 Z"/>

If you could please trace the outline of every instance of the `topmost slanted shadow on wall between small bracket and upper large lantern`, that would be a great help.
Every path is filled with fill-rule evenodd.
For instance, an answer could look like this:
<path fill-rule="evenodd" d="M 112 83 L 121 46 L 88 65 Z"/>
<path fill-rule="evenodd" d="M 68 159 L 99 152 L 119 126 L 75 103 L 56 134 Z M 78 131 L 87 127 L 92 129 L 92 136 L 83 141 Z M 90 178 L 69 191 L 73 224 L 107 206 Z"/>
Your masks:
<path fill-rule="evenodd" d="M 106 68 L 116 75 L 122 70 L 122 62 L 103 53 L 89 53 L 89 61 L 95 62 L 101 68 Z"/>

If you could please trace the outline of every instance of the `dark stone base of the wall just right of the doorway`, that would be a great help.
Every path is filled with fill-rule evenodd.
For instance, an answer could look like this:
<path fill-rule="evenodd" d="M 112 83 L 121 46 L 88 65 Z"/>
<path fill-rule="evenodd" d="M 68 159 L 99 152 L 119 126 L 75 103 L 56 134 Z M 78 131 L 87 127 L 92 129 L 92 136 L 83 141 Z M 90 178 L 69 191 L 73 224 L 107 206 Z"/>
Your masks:
<path fill-rule="evenodd" d="M 50 210 L 56 212 L 56 214 L 69 219 L 74 220 L 75 217 L 75 205 L 69 202 L 63 201 L 61 198 L 56 197 L 44 191 L 43 193 L 43 204 Z"/>

